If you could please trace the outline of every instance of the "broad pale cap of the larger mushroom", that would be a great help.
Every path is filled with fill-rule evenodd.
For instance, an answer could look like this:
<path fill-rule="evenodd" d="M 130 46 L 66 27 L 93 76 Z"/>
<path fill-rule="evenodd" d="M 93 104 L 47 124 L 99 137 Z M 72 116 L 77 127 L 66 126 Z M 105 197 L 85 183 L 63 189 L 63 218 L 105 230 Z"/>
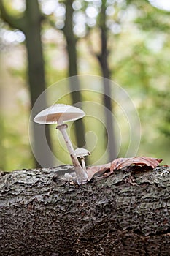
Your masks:
<path fill-rule="evenodd" d="M 34 122 L 39 124 L 63 124 L 66 121 L 74 121 L 85 116 L 80 108 L 70 105 L 55 104 L 42 110 L 34 117 Z"/>

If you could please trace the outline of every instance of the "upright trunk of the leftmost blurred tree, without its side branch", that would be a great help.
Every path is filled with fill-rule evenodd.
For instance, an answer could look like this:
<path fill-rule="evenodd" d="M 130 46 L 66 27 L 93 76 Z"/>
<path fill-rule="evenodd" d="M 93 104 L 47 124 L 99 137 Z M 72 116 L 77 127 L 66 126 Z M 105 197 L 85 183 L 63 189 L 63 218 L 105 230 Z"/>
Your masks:
<path fill-rule="evenodd" d="M 36 109 L 35 113 L 34 110 L 32 110 L 33 120 L 37 112 L 47 108 L 47 99 L 45 94 L 45 64 L 41 39 L 42 13 L 39 10 L 37 0 L 26 0 L 25 19 L 26 28 L 24 29 L 24 33 L 26 35 L 26 49 L 28 53 L 28 81 L 30 85 L 31 106 L 34 106 L 36 99 L 38 99 L 42 93 L 44 95 L 44 97 L 41 98 L 41 101 L 39 101 L 39 110 Z M 34 122 L 32 126 L 34 131 L 34 152 L 36 154 L 36 159 L 42 158 L 43 154 L 46 159 L 45 166 L 53 166 L 53 159 L 49 157 L 48 152 L 45 150 L 46 146 L 44 143 L 46 143 L 46 141 L 44 142 L 42 140 L 42 134 L 44 132 L 43 127 L 39 127 L 39 125 Z M 49 147 L 52 148 L 49 127 L 46 127 L 45 135 Z M 40 167 L 39 162 L 36 162 L 36 167 Z"/>

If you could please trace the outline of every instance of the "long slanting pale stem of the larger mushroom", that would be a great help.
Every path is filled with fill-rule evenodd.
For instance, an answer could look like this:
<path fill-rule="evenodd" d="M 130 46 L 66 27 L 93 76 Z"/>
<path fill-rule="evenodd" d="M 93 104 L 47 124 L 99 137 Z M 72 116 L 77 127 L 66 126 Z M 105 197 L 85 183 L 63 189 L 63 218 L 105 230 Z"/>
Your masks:
<path fill-rule="evenodd" d="M 77 183 L 83 184 L 88 181 L 88 174 L 86 171 L 81 167 L 80 162 L 78 161 L 76 154 L 74 153 L 74 148 L 72 146 L 71 140 L 69 138 L 69 135 L 66 132 L 67 124 L 60 124 L 56 127 L 56 129 L 59 129 L 61 131 L 61 134 L 63 135 L 63 139 L 66 142 L 66 146 L 68 148 L 70 157 L 72 159 L 72 164 L 74 165 L 74 169 L 77 175 Z"/>

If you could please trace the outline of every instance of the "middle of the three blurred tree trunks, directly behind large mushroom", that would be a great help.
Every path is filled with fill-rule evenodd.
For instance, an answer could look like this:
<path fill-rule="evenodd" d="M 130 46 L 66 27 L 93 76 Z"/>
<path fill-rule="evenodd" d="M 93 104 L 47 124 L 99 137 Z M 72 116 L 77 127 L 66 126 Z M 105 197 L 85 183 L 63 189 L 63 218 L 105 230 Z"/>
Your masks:
<path fill-rule="evenodd" d="M 77 39 L 73 32 L 73 13 L 72 8 L 73 0 L 66 0 L 64 4 L 66 5 L 66 20 L 65 26 L 63 27 L 63 34 L 66 38 L 66 50 L 69 59 L 69 77 L 75 76 L 73 79 L 69 80 L 69 86 L 72 97 L 72 104 L 79 103 L 79 108 L 81 108 L 82 96 L 80 92 L 80 81 L 77 77 L 77 49 L 76 43 Z M 74 122 L 75 126 L 75 138 L 77 140 L 77 146 L 85 146 L 85 128 L 82 119 Z"/>

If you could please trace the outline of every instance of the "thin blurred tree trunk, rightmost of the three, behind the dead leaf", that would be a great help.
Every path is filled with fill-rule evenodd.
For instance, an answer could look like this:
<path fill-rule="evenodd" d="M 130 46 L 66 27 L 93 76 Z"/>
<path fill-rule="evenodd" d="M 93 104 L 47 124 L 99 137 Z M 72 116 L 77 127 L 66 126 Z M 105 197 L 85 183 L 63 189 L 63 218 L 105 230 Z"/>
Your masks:
<path fill-rule="evenodd" d="M 107 128 L 107 138 L 108 138 L 108 153 L 109 161 L 117 157 L 116 152 L 116 142 L 115 142 L 115 129 L 114 129 L 114 118 L 112 117 L 112 101 L 111 101 L 111 85 L 109 82 L 110 70 L 108 63 L 109 50 L 107 47 L 107 26 L 106 26 L 106 10 L 107 10 L 107 1 L 101 1 L 101 12 L 99 14 L 99 28 L 101 33 L 101 53 L 97 55 L 98 62 L 101 66 L 101 72 L 103 75 L 104 83 L 104 96 L 103 101 L 106 107 L 105 116 L 106 116 L 106 128 Z"/>

